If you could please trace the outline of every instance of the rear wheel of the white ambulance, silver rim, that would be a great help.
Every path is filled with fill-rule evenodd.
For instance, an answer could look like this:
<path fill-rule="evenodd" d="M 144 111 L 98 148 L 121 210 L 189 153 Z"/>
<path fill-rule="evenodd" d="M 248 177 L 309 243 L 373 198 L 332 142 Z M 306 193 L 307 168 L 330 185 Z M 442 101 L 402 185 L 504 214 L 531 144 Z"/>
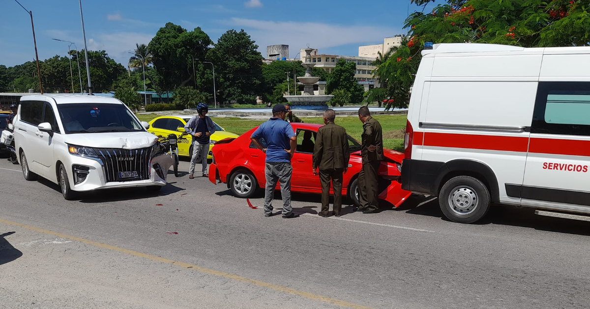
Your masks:
<path fill-rule="evenodd" d="M 458 176 L 442 186 L 438 203 L 448 220 L 474 223 L 490 210 L 490 191 L 477 178 Z"/>

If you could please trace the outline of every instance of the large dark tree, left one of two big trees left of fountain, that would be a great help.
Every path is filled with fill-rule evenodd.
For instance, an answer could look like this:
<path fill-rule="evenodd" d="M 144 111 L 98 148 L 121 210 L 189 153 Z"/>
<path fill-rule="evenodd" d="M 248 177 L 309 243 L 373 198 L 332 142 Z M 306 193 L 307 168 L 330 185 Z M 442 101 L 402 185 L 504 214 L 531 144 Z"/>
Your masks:
<path fill-rule="evenodd" d="M 206 78 L 205 67 L 201 63 L 206 59 L 209 46 L 212 44 L 209 36 L 201 28 L 186 31 L 172 22 L 160 28 L 149 42 L 148 49 L 153 55 L 153 65 L 162 77 L 161 87 L 169 90 L 195 84 L 195 74 L 198 75 L 198 89 L 203 90 L 204 87 L 212 85 L 212 82 L 209 82 L 211 79 Z M 192 65 L 193 58 L 195 67 Z"/>

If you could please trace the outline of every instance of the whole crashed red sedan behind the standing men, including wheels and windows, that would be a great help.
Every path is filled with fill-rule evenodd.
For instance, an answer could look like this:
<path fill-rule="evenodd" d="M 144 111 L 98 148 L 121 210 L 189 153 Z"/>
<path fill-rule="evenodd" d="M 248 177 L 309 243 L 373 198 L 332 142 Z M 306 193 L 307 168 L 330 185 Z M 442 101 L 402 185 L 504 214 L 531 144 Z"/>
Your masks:
<path fill-rule="evenodd" d="M 291 124 L 297 135 L 297 148 L 291 165 L 293 174 L 291 177 L 291 192 L 322 193 L 319 176 L 313 175 L 312 154 L 317 129 L 322 125 L 317 124 Z M 213 147 L 213 162 L 209 167 L 209 180 L 214 184 L 223 182 L 236 197 L 252 197 L 258 188 L 264 188 L 264 160 L 266 155 L 260 149 L 255 148 L 250 140 L 253 128 L 237 138 L 227 138 L 218 141 Z M 360 143 L 352 137 L 348 137 L 350 146 L 350 161 L 348 172 L 344 174 L 342 181 L 342 194 L 348 196 L 356 205 L 358 199 L 358 175 L 362 166 L 360 157 Z M 263 142 L 266 148 L 266 142 Z M 404 154 L 390 149 L 383 149 L 385 160 L 379 167 L 379 198 L 390 202 L 395 207 L 404 202 L 411 192 L 402 190 L 399 183 L 401 162 Z M 277 189 L 279 186 L 277 185 Z M 330 194 L 333 194 L 330 188 Z"/>

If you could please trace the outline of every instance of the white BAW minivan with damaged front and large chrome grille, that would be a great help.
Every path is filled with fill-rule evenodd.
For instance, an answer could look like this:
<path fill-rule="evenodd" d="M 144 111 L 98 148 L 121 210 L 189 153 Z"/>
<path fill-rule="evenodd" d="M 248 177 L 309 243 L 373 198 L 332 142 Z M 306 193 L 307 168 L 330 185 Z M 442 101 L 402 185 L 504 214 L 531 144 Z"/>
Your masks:
<path fill-rule="evenodd" d="M 25 95 L 14 119 L 15 150 L 26 180 L 47 178 L 66 200 L 107 188 L 159 190 L 172 158 L 146 127 L 118 99 Z"/>

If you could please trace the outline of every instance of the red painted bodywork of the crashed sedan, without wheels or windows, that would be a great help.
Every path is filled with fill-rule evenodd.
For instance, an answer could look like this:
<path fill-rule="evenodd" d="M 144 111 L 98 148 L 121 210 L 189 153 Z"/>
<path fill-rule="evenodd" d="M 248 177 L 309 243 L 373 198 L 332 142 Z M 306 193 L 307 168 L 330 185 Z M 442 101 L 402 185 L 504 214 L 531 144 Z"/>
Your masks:
<path fill-rule="evenodd" d="M 322 125 L 316 124 L 291 124 L 294 131 L 304 129 L 317 132 Z M 214 184 L 218 182 L 228 183 L 230 175 L 237 170 L 244 169 L 252 172 L 260 188 L 264 188 L 266 180 L 264 178 L 264 167 L 266 155 L 260 149 L 251 146 L 250 137 L 257 128 L 240 135 L 235 139 L 227 138 L 218 141 L 212 149 L 214 162 L 209 167 L 209 181 Z M 399 207 L 411 192 L 402 190 L 399 183 L 401 173 L 398 165 L 401 166 L 404 160 L 404 154 L 390 149 L 383 149 L 385 160 L 381 161 L 379 167 L 379 177 L 383 181 L 391 181 L 391 184 L 379 194 L 381 200 L 390 202 L 395 207 Z M 319 176 L 314 176 L 312 171 L 312 154 L 305 152 L 295 152 L 291 160 L 293 174 L 291 176 L 291 191 L 301 193 L 322 193 Z M 362 167 L 360 151 L 350 154 L 348 172 L 344 174 L 342 181 L 342 194 L 347 195 L 350 183 L 355 180 Z M 279 189 L 277 185 L 277 189 Z M 330 193 L 333 194 L 332 188 Z"/>

